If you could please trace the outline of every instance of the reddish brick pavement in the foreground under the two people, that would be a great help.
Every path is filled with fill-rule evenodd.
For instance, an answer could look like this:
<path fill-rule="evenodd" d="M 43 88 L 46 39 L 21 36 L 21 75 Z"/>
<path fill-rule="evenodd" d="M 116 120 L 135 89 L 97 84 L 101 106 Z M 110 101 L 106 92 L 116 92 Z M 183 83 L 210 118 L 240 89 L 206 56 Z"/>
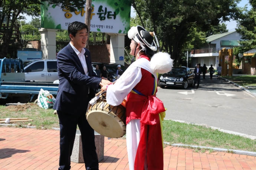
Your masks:
<path fill-rule="evenodd" d="M 57 170 L 59 131 L 0 128 L 0 170 Z M 85 170 L 71 163 L 72 170 Z M 104 160 L 100 170 L 128 170 L 125 140 L 105 137 Z M 253 156 L 224 152 L 196 153 L 191 149 L 164 148 L 164 170 L 256 170 Z"/>

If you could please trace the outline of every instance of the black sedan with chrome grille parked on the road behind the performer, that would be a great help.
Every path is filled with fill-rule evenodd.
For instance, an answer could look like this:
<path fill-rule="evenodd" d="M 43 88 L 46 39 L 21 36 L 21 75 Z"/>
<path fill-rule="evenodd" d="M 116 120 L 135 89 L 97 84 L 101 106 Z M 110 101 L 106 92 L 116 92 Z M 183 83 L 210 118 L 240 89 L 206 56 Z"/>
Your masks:
<path fill-rule="evenodd" d="M 181 86 L 186 89 L 189 85 L 193 86 L 195 74 L 187 67 L 173 67 L 173 69 L 160 76 L 159 86 Z"/>

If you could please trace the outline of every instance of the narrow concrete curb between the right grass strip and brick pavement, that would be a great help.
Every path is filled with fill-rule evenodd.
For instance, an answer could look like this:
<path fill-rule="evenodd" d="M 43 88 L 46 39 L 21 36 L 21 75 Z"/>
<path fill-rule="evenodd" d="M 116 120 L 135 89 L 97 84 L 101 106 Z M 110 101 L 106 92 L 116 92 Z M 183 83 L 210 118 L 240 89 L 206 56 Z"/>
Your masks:
<path fill-rule="evenodd" d="M 170 143 L 165 142 L 165 144 L 170 145 Z M 195 146 L 195 145 L 184 145 L 179 143 L 171 144 L 171 146 L 186 146 L 186 147 L 193 147 L 193 148 L 203 148 L 203 149 L 213 149 L 218 152 L 233 152 L 235 154 L 243 154 L 243 155 L 249 155 L 249 156 L 256 156 L 256 152 L 250 152 L 245 150 L 234 150 L 234 149 L 223 149 L 223 148 L 217 148 L 217 147 L 206 147 L 206 146 Z"/>

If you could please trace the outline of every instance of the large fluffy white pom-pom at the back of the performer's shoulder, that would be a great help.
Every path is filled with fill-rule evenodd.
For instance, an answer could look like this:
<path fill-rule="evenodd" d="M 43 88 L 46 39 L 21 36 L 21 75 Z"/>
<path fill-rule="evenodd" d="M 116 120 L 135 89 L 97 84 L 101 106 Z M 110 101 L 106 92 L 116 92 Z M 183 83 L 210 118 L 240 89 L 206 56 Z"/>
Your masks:
<path fill-rule="evenodd" d="M 158 52 L 152 56 L 150 65 L 153 72 L 164 74 L 171 71 L 173 59 L 167 52 Z"/>

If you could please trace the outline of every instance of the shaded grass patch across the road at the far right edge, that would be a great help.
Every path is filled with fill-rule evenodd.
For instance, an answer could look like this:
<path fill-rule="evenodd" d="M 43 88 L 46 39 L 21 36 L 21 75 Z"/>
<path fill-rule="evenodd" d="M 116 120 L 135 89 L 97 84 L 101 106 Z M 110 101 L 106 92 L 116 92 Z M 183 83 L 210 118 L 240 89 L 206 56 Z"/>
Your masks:
<path fill-rule="evenodd" d="M 255 75 L 243 75 L 243 76 L 223 76 L 230 81 L 233 81 L 240 86 L 256 86 Z"/>

